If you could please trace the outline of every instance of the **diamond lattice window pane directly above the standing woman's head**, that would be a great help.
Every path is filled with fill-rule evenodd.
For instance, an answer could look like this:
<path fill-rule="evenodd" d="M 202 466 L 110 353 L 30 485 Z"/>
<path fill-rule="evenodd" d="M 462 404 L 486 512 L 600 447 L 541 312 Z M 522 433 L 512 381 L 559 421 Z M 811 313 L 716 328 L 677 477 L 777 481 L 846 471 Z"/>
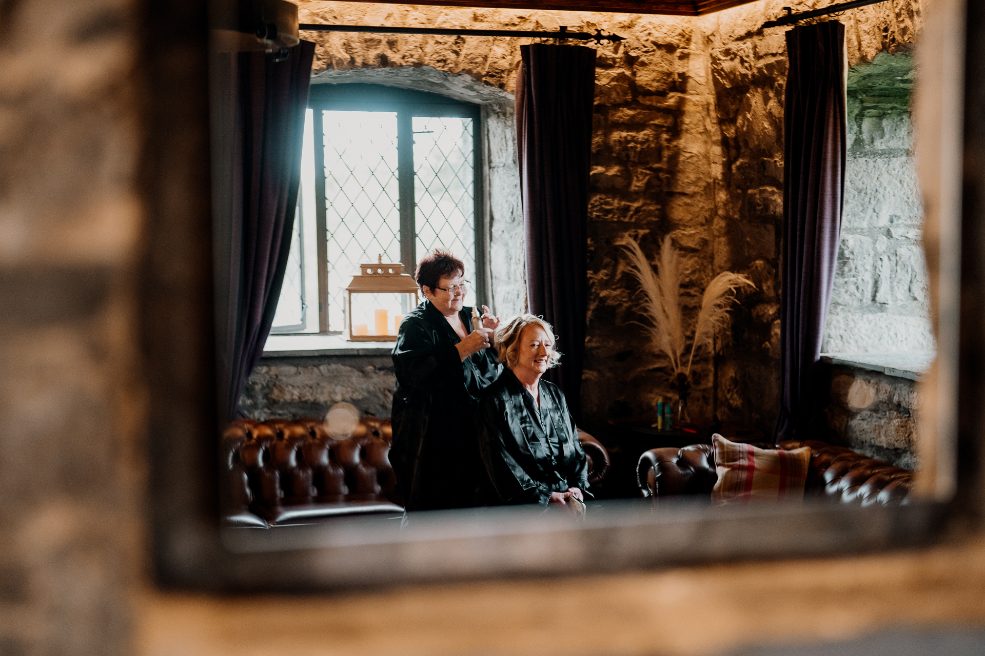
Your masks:
<path fill-rule="evenodd" d="M 443 247 L 465 263 L 465 276 L 475 280 L 475 157 L 471 118 L 415 116 L 414 200 L 417 204 L 418 259 Z M 474 305 L 469 289 L 466 305 Z"/>

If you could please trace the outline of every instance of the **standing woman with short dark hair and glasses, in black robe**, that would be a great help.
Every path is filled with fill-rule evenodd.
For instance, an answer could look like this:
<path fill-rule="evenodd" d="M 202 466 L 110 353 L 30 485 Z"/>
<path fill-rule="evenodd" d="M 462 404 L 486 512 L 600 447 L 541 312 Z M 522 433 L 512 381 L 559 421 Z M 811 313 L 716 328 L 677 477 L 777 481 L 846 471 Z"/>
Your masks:
<path fill-rule="evenodd" d="M 501 369 L 490 348 L 499 320 L 483 306 L 483 327 L 472 329 L 464 276 L 462 261 L 440 249 L 418 264 L 427 300 L 404 318 L 393 348 L 390 462 L 408 510 L 475 506 L 486 478 L 474 415 Z"/>

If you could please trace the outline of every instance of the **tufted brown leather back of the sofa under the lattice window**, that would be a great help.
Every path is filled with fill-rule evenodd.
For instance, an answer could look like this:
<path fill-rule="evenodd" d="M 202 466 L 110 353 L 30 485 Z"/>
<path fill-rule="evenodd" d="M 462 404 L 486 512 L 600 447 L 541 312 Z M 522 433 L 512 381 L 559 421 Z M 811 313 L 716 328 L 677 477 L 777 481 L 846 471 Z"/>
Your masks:
<path fill-rule="evenodd" d="M 390 466 L 390 420 L 362 417 L 348 440 L 333 440 L 321 419 L 238 419 L 223 433 L 230 510 L 285 500 L 376 495 L 401 505 Z"/>

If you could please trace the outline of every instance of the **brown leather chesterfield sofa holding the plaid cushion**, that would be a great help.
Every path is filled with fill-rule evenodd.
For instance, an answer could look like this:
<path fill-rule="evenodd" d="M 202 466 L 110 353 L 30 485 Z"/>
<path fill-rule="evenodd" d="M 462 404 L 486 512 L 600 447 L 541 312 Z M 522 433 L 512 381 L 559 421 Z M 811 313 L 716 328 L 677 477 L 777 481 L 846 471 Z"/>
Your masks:
<path fill-rule="evenodd" d="M 811 447 L 805 499 L 821 498 L 832 503 L 861 506 L 900 506 L 913 487 L 914 473 L 882 460 L 834 447 L 815 440 L 787 441 L 760 448 Z M 710 495 L 718 474 L 714 448 L 691 445 L 684 448 L 654 448 L 643 453 L 636 467 L 636 483 L 643 497 L 656 501 L 676 495 Z"/>

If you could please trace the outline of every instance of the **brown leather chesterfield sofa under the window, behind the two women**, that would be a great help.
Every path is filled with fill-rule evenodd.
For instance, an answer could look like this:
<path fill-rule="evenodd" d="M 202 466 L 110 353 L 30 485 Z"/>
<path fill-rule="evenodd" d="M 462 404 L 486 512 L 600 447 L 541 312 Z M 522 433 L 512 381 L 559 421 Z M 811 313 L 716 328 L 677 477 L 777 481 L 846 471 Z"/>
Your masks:
<path fill-rule="evenodd" d="M 578 432 L 588 481 L 609 470 L 609 453 Z M 362 417 L 348 440 L 333 440 L 321 419 L 239 419 L 223 432 L 224 515 L 228 525 L 269 527 L 347 514 L 404 512 L 390 466 L 389 419 Z"/>

